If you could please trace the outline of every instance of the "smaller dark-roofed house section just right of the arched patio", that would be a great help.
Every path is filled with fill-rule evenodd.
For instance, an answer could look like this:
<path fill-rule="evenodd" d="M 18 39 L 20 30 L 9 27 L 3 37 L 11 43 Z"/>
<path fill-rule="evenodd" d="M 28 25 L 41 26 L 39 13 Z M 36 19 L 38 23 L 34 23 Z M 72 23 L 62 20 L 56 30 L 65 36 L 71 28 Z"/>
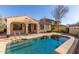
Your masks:
<path fill-rule="evenodd" d="M 53 20 L 48 18 L 42 18 L 39 20 L 40 32 L 51 32 L 51 25 Z"/>

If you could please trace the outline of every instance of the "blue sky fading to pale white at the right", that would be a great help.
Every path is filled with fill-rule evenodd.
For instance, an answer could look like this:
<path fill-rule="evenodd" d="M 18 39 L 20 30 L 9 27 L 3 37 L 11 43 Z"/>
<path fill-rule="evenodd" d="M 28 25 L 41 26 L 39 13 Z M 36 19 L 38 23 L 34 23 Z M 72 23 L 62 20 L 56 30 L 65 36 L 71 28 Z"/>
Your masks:
<path fill-rule="evenodd" d="M 62 24 L 75 24 L 79 22 L 79 5 L 67 5 L 69 11 L 61 19 Z M 0 5 L 0 16 L 31 16 L 36 20 L 53 18 L 56 5 Z"/>

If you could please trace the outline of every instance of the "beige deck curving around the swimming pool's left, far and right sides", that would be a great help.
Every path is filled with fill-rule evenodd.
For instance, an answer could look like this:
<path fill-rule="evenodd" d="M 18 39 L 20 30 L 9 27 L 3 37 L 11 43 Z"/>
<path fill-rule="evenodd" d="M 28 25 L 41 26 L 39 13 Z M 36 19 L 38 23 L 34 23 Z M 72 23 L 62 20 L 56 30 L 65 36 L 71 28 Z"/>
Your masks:
<path fill-rule="evenodd" d="M 39 34 L 29 34 L 29 35 L 19 35 L 19 36 L 10 36 L 9 38 L 1 38 L 0 39 L 0 54 L 3 54 L 6 49 L 6 45 L 10 42 L 13 42 L 15 40 L 22 40 L 22 39 L 32 39 L 32 38 L 37 38 L 41 36 L 51 36 L 51 35 L 62 35 L 62 36 L 67 36 L 70 37 L 69 40 L 67 40 L 64 44 L 59 46 L 55 51 L 60 54 L 66 54 L 68 53 L 70 47 L 73 45 L 75 39 L 74 37 L 70 35 L 64 35 L 61 33 L 39 33 Z"/>

